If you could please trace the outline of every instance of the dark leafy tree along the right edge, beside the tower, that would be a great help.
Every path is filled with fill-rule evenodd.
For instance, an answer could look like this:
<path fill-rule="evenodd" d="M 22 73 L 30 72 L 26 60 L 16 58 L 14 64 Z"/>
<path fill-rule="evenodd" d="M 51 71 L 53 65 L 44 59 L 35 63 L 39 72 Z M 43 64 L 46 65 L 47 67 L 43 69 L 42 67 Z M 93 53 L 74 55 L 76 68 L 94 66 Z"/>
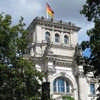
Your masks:
<path fill-rule="evenodd" d="M 86 0 L 81 14 L 83 14 L 88 21 L 94 23 L 94 28 L 87 31 L 88 36 L 90 36 L 90 41 L 88 43 L 89 45 L 85 44 L 85 47 L 89 46 L 89 48 L 91 48 L 91 56 L 90 58 L 85 58 L 86 65 L 84 69 L 85 72 L 92 71 L 94 77 L 97 78 L 100 77 L 100 0 Z M 82 46 L 83 45 L 84 43 L 82 43 Z M 98 90 L 100 91 L 100 86 Z M 100 100 L 100 94 L 97 100 Z"/>

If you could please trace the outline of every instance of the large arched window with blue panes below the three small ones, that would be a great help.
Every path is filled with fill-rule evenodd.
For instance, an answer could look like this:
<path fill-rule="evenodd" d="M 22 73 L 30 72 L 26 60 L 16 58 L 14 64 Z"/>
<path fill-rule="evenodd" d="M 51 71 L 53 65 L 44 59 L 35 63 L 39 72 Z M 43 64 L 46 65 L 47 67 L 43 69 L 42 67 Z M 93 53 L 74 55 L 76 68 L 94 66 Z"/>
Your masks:
<path fill-rule="evenodd" d="M 53 83 L 54 92 L 56 93 L 69 93 L 70 85 L 69 82 L 65 78 L 57 78 Z"/>

